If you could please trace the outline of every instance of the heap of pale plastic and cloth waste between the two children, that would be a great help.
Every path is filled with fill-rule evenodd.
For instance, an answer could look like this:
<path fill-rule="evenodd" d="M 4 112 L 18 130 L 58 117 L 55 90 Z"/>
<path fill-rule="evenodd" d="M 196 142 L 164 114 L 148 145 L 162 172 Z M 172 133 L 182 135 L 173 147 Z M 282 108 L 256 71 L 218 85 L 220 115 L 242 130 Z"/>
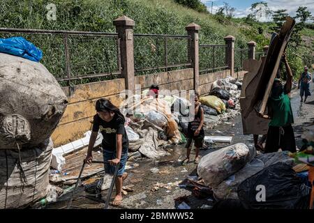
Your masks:
<path fill-rule="evenodd" d="M 144 157 L 154 159 L 170 155 L 163 149 L 165 146 L 183 143 L 184 136 L 178 125 L 180 114 L 171 112 L 174 104 L 180 101 L 186 103 L 187 100 L 170 96 L 153 98 L 147 95 L 142 99 L 137 98 L 137 102 L 135 100 L 131 105 L 127 101 L 124 105 L 127 109 L 122 112 L 127 117 L 129 151 L 139 151 Z"/>

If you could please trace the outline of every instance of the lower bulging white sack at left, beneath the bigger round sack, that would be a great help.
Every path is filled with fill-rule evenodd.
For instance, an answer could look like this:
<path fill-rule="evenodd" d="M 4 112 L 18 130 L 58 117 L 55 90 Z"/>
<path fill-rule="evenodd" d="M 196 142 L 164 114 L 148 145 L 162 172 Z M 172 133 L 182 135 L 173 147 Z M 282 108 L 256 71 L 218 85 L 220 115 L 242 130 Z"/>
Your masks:
<path fill-rule="evenodd" d="M 23 208 L 47 195 L 52 148 L 52 139 L 47 139 L 20 155 L 17 150 L 0 150 L 0 209 Z"/>

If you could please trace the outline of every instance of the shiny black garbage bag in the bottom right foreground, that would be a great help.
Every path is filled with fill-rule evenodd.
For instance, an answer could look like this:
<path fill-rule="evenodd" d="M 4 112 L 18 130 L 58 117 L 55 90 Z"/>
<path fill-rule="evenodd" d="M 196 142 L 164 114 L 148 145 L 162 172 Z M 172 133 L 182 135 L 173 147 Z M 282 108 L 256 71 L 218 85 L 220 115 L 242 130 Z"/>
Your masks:
<path fill-rule="evenodd" d="M 260 196 L 261 187 L 264 187 L 264 199 Z M 290 165 L 278 162 L 244 180 L 237 193 L 245 208 L 308 209 L 311 188 Z"/>

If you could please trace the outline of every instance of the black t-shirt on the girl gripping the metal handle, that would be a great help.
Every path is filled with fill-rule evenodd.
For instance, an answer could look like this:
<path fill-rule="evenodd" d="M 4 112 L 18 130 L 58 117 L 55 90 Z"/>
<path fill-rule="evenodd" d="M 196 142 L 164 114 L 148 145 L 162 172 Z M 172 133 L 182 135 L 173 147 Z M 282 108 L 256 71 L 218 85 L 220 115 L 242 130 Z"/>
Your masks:
<path fill-rule="evenodd" d="M 128 151 L 128 135 L 124 128 L 124 121 L 117 115 L 114 115 L 112 121 L 106 122 L 98 114 L 94 116 L 93 132 L 100 130 L 103 134 L 103 149 L 106 151 L 117 151 L 117 134 L 122 134 L 122 153 Z"/>

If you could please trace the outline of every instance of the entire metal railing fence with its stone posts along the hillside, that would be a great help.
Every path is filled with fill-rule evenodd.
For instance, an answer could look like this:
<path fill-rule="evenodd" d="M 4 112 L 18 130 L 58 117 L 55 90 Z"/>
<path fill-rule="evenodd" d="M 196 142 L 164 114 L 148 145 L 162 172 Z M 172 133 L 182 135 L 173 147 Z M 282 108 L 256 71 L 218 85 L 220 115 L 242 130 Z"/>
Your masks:
<path fill-rule="evenodd" d="M 114 20 L 117 33 L 53 31 L 39 29 L 3 29 L 0 38 L 23 36 L 43 51 L 40 61 L 62 86 L 85 84 L 123 77 L 126 89 L 135 92 L 135 75 L 193 68 L 193 89 L 199 75 L 243 69 L 243 61 L 252 57 L 255 42 L 248 49 L 233 49 L 233 36 L 225 36 L 225 45 L 200 45 L 200 26 L 186 26 L 187 35 L 134 33 L 135 22 L 126 16 Z M 16 35 L 15 35 L 16 34 Z"/>

